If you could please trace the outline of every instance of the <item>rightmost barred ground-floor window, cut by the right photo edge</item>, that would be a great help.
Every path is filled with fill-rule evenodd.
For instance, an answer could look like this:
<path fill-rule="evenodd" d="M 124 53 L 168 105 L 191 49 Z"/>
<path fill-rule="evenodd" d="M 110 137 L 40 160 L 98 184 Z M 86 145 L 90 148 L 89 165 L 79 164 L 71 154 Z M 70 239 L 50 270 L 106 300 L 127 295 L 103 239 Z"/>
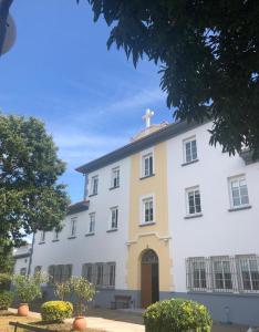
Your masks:
<path fill-rule="evenodd" d="M 241 288 L 244 291 L 259 291 L 259 258 L 256 256 L 239 257 Z"/>

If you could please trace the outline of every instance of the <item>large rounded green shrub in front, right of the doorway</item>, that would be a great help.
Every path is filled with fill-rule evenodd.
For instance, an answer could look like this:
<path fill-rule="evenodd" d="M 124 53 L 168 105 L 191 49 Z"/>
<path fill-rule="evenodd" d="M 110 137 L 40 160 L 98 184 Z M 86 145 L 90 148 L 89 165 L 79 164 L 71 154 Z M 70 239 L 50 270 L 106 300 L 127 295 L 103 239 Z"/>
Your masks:
<path fill-rule="evenodd" d="M 209 332 L 208 309 L 197 302 L 170 299 L 149 305 L 144 313 L 146 332 Z"/>

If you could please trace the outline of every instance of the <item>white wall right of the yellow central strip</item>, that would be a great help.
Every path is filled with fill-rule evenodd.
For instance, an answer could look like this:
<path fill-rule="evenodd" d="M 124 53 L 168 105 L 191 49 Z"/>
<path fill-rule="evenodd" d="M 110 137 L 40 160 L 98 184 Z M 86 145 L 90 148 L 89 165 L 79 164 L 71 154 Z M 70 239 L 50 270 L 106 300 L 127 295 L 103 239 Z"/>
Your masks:
<path fill-rule="evenodd" d="M 176 291 L 186 291 L 188 257 L 259 253 L 259 163 L 246 165 L 209 145 L 211 124 L 205 124 L 167 142 L 168 211 L 173 273 Z M 182 166 L 183 141 L 196 135 L 198 162 Z M 228 177 L 246 175 L 250 209 L 230 208 Z M 185 189 L 199 185 L 203 217 L 185 219 Z"/>

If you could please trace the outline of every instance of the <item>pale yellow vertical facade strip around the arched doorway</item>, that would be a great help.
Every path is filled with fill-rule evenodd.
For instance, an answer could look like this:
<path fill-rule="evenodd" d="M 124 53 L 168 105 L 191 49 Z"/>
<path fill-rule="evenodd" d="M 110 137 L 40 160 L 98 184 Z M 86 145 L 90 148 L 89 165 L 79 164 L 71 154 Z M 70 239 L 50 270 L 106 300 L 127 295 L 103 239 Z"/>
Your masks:
<path fill-rule="evenodd" d="M 159 291 L 170 291 L 166 142 L 153 147 L 154 176 L 141 178 L 142 154 L 131 157 L 127 286 L 131 290 L 141 289 L 142 255 L 153 249 L 159 259 Z M 149 195 L 154 196 L 155 224 L 142 225 L 142 198 Z"/>

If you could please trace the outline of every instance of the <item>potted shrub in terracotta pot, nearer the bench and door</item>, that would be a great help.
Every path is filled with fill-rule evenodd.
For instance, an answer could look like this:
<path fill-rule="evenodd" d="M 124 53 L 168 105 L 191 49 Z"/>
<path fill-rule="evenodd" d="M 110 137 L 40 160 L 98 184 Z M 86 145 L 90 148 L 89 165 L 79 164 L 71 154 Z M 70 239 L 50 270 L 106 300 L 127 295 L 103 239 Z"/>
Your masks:
<path fill-rule="evenodd" d="M 75 331 L 84 331 L 86 329 L 86 320 L 84 317 L 86 302 L 93 300 L 95 287 L 83 277 L 72 277 L 70 283 L 71 291 L 76 303 L 76 317 L 73 321 L 73 329 Z"/>

